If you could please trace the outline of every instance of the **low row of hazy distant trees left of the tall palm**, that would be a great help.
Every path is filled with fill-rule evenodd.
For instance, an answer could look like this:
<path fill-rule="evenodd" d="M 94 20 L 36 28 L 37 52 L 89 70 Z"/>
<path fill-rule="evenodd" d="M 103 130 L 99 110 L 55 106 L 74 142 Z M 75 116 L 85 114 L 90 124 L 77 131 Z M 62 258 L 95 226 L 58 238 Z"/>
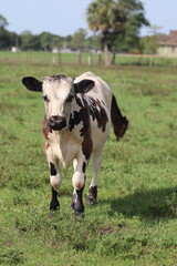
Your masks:
<path fill-rule="evenodd" d="M 2 16 L 0 16 L 2 17 Z M 32 34 L 25 30 L 18 34 L 0 27 L 0 50 L 11 50 L 17 47 L 22 51 L 52 51 L 53 49 L 84 49 L 90 48 L 91 39 L 85 38 L 86 31 L 80 29 L 74 35 L 61 37 L 50 32 Z"/>

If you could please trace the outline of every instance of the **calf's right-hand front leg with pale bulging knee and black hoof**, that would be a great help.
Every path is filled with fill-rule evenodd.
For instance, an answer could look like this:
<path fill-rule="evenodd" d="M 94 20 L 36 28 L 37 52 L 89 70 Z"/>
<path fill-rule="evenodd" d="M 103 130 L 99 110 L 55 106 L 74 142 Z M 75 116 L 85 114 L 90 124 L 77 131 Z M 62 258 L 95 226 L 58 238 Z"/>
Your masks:
<path fill-rule="evenodd" d="M 74 174 L 72 177 L 72 183 L 74 187 L 73 200 L 72 200 L 72 208 L 75 212 L 75 215 L 82 215 L 84 213 L 84 204 L 83 204 L 83 190 L 85 186 L 85 171 L 86 164 L 84 157 L 74 161 Z"/>

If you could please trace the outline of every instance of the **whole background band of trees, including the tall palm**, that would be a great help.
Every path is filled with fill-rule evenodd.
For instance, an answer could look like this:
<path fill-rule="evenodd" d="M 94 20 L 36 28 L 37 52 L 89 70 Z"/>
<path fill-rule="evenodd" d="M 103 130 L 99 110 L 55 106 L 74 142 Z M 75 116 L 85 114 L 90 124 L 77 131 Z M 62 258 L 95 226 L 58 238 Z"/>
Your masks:
<path fill-rule="evenodd" d="M 114 63 L 117 52 L 156 52 L 157 34 L 139 37 L 140 28 L 150 25 L 139 0 L 95 0 L 87 7 L 86 20 L 90 30 L 94 33 L 92 37 L 87 37 L 85 29 L 79 29 L 73 35 L 66 37 L 50 32 L 32 34 L 29 30 L 17 34 L 7 30 L 8 21 L 1 14 L 0 50 L 10 50 L 12 47 L 24 51 L 100 50 L 104 51 L 105 64 Z"/>

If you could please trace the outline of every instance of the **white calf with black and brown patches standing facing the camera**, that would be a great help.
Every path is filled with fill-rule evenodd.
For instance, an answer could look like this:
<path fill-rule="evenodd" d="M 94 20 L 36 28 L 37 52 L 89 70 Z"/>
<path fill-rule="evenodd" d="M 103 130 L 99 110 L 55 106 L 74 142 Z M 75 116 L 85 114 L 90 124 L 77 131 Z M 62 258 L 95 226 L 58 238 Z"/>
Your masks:
<path fill-rule="evenodd" d="M 96 202 L 97 171 L 101 166 L 102 150 L 110 134 L 111 121 L 115 135 L 123 136 L 128 121 L 116 104 L 107 83 L 91 72 L 76 79 L 65 75 L 45 76 L 43 82 L 32 76 L 22 79 L 31 91 L 43 93 L 45 117 L 43 135 L 50 167 L 52 201 L 50 209 L 58 209 L 59 188 L 62 184 L 60 163 L 67 168 L 73 162 L 74 187 L 72 208 L 75 214 L 84 212 L 82 193 L 86 180 L 86 166 L 92 155 L 93 176 L 87 203 Z"/>

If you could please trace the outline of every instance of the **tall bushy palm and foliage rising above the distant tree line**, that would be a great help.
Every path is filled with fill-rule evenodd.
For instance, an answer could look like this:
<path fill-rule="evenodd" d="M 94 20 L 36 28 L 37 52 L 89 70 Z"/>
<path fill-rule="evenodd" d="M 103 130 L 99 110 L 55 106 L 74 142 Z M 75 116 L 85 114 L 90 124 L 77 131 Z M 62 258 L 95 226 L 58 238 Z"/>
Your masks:
<path fill-rule="evenodd" d="M 138 0 L 96 0 L 87 8 L 88 27 L 101 32 L 105 53 L 105 64 L 110 64 L 110 51 L 118 40 L 137 37 L 142 25 L 148 25 L 144 16 L 143 3 Z"/>

